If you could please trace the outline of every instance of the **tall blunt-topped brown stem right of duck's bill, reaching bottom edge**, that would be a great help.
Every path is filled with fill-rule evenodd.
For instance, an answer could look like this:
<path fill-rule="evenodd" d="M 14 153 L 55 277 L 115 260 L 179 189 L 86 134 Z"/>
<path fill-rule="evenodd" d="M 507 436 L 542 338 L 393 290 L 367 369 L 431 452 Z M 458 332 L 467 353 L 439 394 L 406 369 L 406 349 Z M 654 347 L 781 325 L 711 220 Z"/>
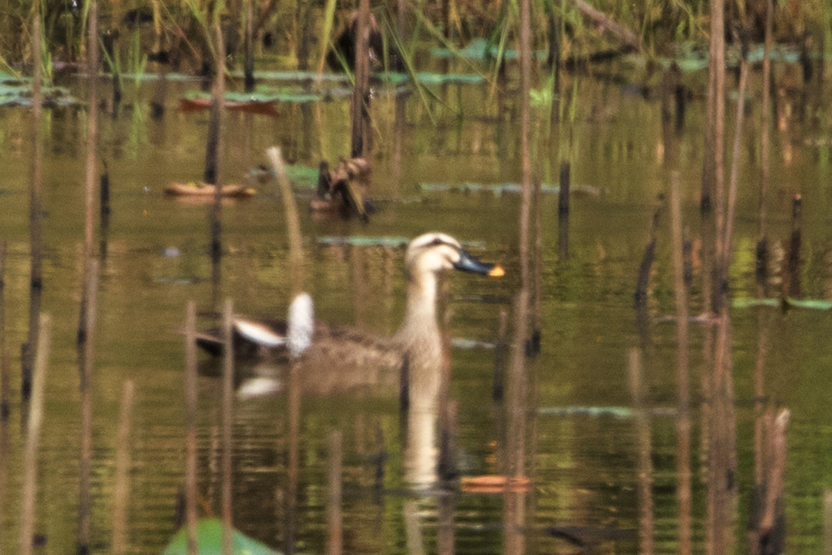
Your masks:
<path fill-rule="evenodd" d="M 671 236 L 673 289 L 676 300 L 676 376 L 679 403 L 676 414 L 676 495 L 679 502 L 679 553 L 691 553 L 691 415 L 688 371 L 688 308 L 685 285 L 684 237 L 679 171 L 671 174 Z"/>

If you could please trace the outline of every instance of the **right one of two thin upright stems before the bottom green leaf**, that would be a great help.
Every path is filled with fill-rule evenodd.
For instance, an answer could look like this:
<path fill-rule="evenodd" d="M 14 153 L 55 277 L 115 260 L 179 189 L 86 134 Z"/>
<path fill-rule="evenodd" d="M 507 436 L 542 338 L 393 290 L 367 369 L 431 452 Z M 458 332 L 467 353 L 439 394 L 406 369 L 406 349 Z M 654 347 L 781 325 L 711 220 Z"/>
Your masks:
<path fill-rule="evenodd" d="M 234 303 L 225 300 L 223 310 L 222 364 L 222 553 L 231 553 L 231 424 L 234 417 Z"/>

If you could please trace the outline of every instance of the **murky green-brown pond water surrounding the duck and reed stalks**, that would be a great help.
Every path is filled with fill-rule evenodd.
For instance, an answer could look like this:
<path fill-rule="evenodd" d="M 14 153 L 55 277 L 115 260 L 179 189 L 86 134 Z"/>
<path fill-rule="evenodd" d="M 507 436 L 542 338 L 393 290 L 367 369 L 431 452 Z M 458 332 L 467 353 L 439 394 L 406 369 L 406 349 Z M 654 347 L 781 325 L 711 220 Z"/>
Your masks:
<path fill-rule="evenodd" d="M 792 67 L 779 67 L 788 82 Z M 641 78 L 636 71 L 636 78 Z M 701 75 L 690 77 L 691 87 Z M 759 90 L 759 75 L 753 76 Z M 83 95 L 81 82 L 68 85 Z M 513 83 L 510 83 L 513 87 Z M 153 82 L 130 91 L 115 116 L 101 112 L 100 156 L 111 179 L 111 221 L 102 256 L 96 337 L 92 470 L 92 552 L 109 553 L 116 424 L 122 384 L 136 384 L 132 418 L 128 553 L 159 553 L 176 532 L 176 496 L 184 475 L 184 349 L 177 330 L 187 300 L 203 312 L 215 310 L 205 205 L 165 198 L 172 181 L 198 180 L 205 156 L 207 112 L 183 113 L 178 98 L 196 87 L 171 82 L 166 114 L 151 117 Z M 332 245 L 324 238 L 362 235 L 412 237 L 425 230 L 456 236 L 483 260 L 502 263 L 503 280 L 454 275 L 452 334 L 490 342 L 498 334 L 500 310 L 518 290 L 517 195 L 488 191 L 420 191 L 423 183 L 503 185 L 521 181 L 518 99 L 513 89 L 499 102 L 487 86 L 435 87 L 442 102 L 418 96 L 396 101 L 379 86 L 372 107 L 375 124 L 372 193 L 378 214 L 369 224 L 312 217 L 301 210 L 307 289 L 324 320 L 355 324 L 380 334 L 394 332 L 404 310 L 403 250 L 385 245 Z M 102 93 L 105 94 L 106 93 Z M 832 299 L 830 290 L 830 114 L 810 87 L 788 89 L 778 102 L 783 125 L 773 136 L 769 198 L 772 278 L 777 296 L 781 260 L 790 233 L 790 201 L 804 199 L 803 295 Z M 428 97 L 429 99 L 432 97 Z M 133 102 L 133 100 L 136 102 Z M 658 102 L 630 94 L 614 81 L 567 77 L 562 122 L 542 107 L 533 115 L 533 136 L 542 183 L 557 184 L 563 156 L 572 161 L 572 181 L 597 188 L 597 196 L 572 201 L 569 256 L 558 248 L 557 196 L 544 194 L 542 220 L 542 350 L 528 360 L 533 376 L 526 443 L 526 551 L 576 553 L 548 533 L 551 527 L 601 530 L 590 539 L 597 553 L 640 553 L 639 515 L 647 505 L 639 493 L 640 435 L 632 406 L 626 360 L 630 349 L 645 352 L 646 402 L 676 404 L 676 328 L 661 320 L 673 311 L 670 231 L 667 212 L 657 230 L 656 261 L 648 298 L 649 320 L 639 326 L 632 309 L 636 273 L 650 235 L 656 198 L 666 193 L 670 171 L 681 171 L 684 217 L 694 242 L 691 312 L 701 310 L 698 250 L 702 114 L 696 98 L 681 131 L 663 136 Z M 740 204 L 735 264 L 730 270 L 737 297 L 757 295 L 754 260 L 759 183 L 759 97 L 750 98 L 748 129 L 740 163 Z M 428 109 L 438 123 L 428 117 Z M 557 108 L 556 108 L 557 109 Z M 229 112 L 225 116 L 226 182 L 246 183 L 250 167 L 267 163 L 265 149 L 280 146 L 290 163 L 316 167 L 349 152 L 349 99 L 278 104 L 277 116 Z M 570 116 L 569 114 L 573 114 Z M 729 114 L 731 114 L 729 109 Z M 404 121 L 400 119 L 404 116 Z M 4 480 L 0 513 L 2 553 L 17 546 L 22 484 L 22 407 L 19 348 L 28 314 L 28 183 L 32 145 L 28 112 L 0 109 L 0 238 L 7 240 L 6 341 L 12 369 L 12 414 L 3 436 Z M 46 543 L 37 553 L 70 553 L 77 529 L 79 428 L 77 355 L 74 347 L 82 268 L 84 111 L 46 111 L 44 181 L 44 297 L 52 315 L 53 349 L 47 377 L 46 414 L 38 456 L 36 531 Z M 730 128 L 730 121 L 729 121 Z M 671 154 L 673 156 L 671 156 Z M 247 315 L 283 315 L 290 295 L 285 218 L 275 183 L 256 185 L 260 194 L 223 208 L 219 296 Z M 303 193 L 300 206 L 305 206 Z M 779 257 L 779 258 L 778 258 Z M 760 313 L 765 315 L 760 320 Z M 767 320 L 766 320 L 767 319 Z M 765 321 L 765 394 L 792 414 L 786 474 L 787 543 L 791 553 L 819 553 L 823 538 L 823 493 L 832 486 L 832 315 L 825 310 L 736 309 L 732 346 L 736 398 L 739 503 L 730 523 L 733 551 L 745 551 L 753 485 L 753 380 L 760 321 Z M 208 325 L 201 319 L 201 325 Z M 696 552 L 707 536 L 706 468 L 701 448 L 702 342 L 706 326 L 691 325 L 691 466 L 693 538 Z M 452 394 L 458 400 L 458 458 L 464 475 L 500 473 L 507 418 L 492 401 L 494 351 L 454 349 Z M 201 359 L 206 370 L 215 369 Z M 220 514 L 220 379 L 200 378 L 199 490 L 203 513 Z M 614 409 L 618 408 L 618 409 Z M 344 552 L 405 553 L 406 509 L 415 504 L 425 548 L 453 533 L 458 553 L 503 552 L 503 497 L 414 492 L 406 479 L 396 399 L 304 399 L 300 424 L 295 546 L 321 553 L 327 545 L 327 453 L 329 433 L 344 434 Z M 678 553 L 675 419 L 667 411 L 647 421 L 651 508 L 656 553 Z M 238 400 L 234 414 L 235 527 L 284 549 L 287 519 L 289 407 L 285 394 Z M 380 463 L 378 461 L 381 461 Z M 380 476 L 377 473 L 380 468 Z M 208 508 L 208 509 L 205 509 Z M 449 520 L 449 518 L 451 520 Z M 450 524 L 448 524 L 450 522 Z M 614 532 L 614 533 L 613 533 Z M 592 535 L 592 534 L 591 534 Z"/>

